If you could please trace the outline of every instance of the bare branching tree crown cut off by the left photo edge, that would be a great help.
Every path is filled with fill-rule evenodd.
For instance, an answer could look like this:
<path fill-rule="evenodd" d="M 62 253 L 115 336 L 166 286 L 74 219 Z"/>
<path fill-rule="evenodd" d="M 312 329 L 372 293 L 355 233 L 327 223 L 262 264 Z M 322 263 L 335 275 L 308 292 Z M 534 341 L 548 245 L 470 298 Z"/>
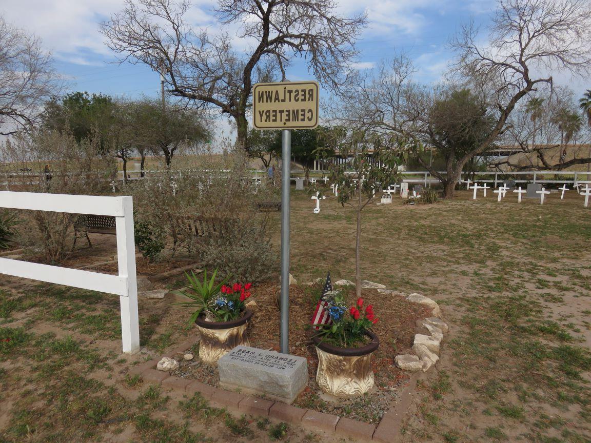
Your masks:
<path fill-rule="evenodd" d="M 50 54 L 33 35 L 0 17 L 0 135 L 34 126 L 60 80 Z"/>

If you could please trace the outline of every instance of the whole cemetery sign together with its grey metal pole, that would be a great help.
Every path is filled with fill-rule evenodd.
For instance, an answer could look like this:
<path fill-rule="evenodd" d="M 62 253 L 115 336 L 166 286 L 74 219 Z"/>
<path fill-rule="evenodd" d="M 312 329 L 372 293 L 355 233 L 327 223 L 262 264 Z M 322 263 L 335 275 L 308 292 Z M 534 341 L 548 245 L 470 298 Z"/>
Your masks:
<path fill-rule="evenodd" d="M 252 88 L 252 125 L 281 129 L 281 328 L 280 348 L 290 353 L 291 131 L 314 129 L 319 120 L 316 82 L 257 83 Z"/>

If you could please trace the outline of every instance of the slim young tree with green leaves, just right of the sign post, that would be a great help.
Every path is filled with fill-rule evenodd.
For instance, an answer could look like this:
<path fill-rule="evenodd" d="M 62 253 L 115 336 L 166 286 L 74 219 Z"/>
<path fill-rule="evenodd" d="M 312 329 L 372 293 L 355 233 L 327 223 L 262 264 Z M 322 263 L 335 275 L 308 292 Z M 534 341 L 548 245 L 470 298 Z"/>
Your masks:
<path fill-rule="evenodd" d="M 342 126 L 321 129 L 318 142 L 318 157 L 329 164 L 331 183 L 339 185 L 337 200 L 356 212 L 355 286 L 357 296 L 361 297 L 361 213 L 376 197 L 381 197 L 382 187 L 398 180 L 398 166 L 407 143 L 397 136 L 348 131 Z M 337 164 L 335 152 L 349 161 Z"/>

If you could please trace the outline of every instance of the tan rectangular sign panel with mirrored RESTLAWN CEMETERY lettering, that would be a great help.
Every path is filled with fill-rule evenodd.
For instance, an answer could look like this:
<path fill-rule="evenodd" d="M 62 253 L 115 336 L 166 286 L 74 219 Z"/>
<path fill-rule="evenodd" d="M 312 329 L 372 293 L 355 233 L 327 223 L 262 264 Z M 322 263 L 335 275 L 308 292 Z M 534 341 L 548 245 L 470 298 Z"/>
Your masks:
<path fill-rule="evenodd" d="M 318 126 L 316 82 L 256 83 L 252 125 L 256 129 L 314 129 Z"/>

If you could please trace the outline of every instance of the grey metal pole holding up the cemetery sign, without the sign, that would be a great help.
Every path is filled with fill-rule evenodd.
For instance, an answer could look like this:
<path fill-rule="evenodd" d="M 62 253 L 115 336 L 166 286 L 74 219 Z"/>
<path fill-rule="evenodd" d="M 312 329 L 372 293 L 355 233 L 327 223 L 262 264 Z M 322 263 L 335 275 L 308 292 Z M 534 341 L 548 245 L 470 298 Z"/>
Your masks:
<path fill-rule="evenodd" d="M 291 131 L 281 131 L 281 338 L 280 348 L 290 353 L 290 178 Z"/>

